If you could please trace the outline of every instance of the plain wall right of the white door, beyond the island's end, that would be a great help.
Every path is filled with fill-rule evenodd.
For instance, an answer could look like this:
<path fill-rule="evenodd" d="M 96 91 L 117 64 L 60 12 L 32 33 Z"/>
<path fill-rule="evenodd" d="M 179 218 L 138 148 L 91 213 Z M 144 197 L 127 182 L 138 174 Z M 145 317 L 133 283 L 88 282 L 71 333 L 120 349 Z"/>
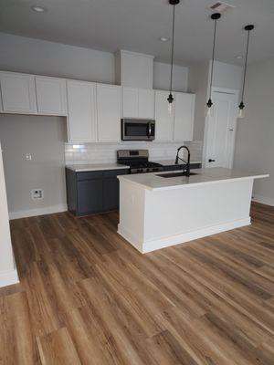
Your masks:
<path fill-rule="evenodd" d="M 254 195 L 274 205 L 274 59 L 248 66 L 246 118 L 237 121 L 236 168 L 269 172 L 254 184 Z"/>

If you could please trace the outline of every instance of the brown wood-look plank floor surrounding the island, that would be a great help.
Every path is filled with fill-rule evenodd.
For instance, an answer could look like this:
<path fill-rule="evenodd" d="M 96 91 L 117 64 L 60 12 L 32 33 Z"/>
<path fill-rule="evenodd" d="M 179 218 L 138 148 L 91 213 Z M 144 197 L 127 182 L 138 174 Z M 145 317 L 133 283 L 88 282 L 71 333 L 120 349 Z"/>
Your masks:
<path fill-rule="evenodd" d="M 0 289 L 0 364 L 274 364 L 274 208 L 142 255 L 119 214 L 11 221 L 19 285 Z"/>

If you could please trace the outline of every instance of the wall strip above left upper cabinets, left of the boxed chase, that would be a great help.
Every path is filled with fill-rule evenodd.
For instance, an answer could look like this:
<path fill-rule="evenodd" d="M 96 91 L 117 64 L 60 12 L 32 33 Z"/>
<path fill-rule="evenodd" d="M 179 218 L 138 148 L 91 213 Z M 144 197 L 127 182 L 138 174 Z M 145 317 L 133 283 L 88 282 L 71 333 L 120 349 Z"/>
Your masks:
<path fill-rule="evenodd" d="M 0 69 L 114 83 L 109 52 L 0 33 Z"/>

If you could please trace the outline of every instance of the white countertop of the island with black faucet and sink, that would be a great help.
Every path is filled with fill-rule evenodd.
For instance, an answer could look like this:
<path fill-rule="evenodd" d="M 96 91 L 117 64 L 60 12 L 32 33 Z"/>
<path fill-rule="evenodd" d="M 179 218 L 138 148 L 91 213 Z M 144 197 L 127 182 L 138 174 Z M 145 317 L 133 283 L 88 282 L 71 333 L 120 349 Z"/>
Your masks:
<path fill-rule="evenodd" d="M 178 171 L 177 171 L 178 172 Z M 236 180 L 259 179 L 269 177 L 268 173 L 253 173 L 239 171 L 235 169 L 226 169 L 220 167 L 213 167 L 209 169 L 195 169 L 191 170 L 196 175 L 192 176 L 178 176 L 172 178 L 163 178 L 159 174 L 171 172 L 151 172 L 151 173 L 137 173 L 132 175 L 121 175 L 118 178 L 121 181 L 127 181 L 142 186 L 148 190 L 168 190 L 175 188 L 187 187 L 190 185 L 207 184 L 207 183 L 221 183 Z"/>

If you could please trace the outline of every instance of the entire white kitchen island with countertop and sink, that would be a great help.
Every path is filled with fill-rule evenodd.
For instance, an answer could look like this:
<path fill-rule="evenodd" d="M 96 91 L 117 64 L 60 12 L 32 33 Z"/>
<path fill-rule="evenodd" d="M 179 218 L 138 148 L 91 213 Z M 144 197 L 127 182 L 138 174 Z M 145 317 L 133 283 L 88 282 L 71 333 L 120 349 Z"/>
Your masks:
<path fill-rule="evenodd" d="M 192 172 L 118 176 L 118 233 L 142 254 L 250 224 L 254 179 L 269 177 L 225 168 Z"/>

